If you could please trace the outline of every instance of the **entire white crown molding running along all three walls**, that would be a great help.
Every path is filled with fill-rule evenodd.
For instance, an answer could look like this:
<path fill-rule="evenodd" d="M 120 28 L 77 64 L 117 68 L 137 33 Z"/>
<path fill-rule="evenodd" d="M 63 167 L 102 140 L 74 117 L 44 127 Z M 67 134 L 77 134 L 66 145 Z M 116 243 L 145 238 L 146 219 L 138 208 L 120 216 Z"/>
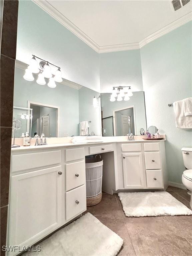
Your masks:
<path fill-rule="evenodd" d="M 90 37 L 88 37 L 83 31 L 81 31 L 77 26 L 75 26 L 70 20 L 68 20 L 64 15 L 62 15 L 58 10 L 56 10 L 49 2 L 47 2 L 46 0 L 44 0 L 44 1 L 32 0 L 32 1 L 35 4 L 37 4 L 40 8 L 42 8 L 45 12 L 47 12 L 50 16 L 52 16 L 55 20 L 57 20 L 59 23 L 61 23 L 64 27 L 69 29 L 73 34 L 75 34 L 83 42 L 85 42 L 87 45 L 89 45 L 97 53 L 141 49 L 144 45 L 154 41 L 155 39 L 171 32 L 172 30 L 174 30 L 192 20 L 192 12 L 189 12 L 185 16 L 177 19 L 176 21 L 173 21 L 169 25 L 167 25 L 167 26 L 159 29 L 155 33 L 147 36 L 140 42 L 119 44 L 119 45 L 99 46 Z"/>

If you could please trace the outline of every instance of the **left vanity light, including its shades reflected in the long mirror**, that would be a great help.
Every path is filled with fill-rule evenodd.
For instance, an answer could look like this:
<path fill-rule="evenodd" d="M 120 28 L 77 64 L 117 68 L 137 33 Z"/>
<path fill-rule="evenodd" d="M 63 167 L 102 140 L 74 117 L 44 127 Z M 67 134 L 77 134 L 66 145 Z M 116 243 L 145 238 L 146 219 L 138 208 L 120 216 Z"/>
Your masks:
<path fill-rule="evenodd" d="M 48 86 L 50 88 L 55 88 L 57 85 L 55 82 L 61 83 L 63 81 L 61 76 L 61 68 L 50 63 L 49 61 L 45 61 L 35 55 L 32 55 L 32 59 L 30 60 L 30 64 L 28 68 L 25 70 L 25 75 L 23 78 L 27 81 L 33 81 L 33 73 L 38 74 L 38 78 L 36 82 L 39 85 L 45 85 L 46 81 L 45 78 L 49 79 Z M 37 62 L 37 59 L 40 60 L 40 62 Z M 54 66 L 57 68 L 56 71 L 52 73 L 51 66 Z"/>

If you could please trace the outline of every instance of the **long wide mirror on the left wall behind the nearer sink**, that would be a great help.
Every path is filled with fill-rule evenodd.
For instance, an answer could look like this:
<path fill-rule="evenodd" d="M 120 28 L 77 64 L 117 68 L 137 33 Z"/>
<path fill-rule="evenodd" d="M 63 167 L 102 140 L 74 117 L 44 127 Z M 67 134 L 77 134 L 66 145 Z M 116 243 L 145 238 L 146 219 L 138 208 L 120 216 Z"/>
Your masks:
<path fill-rule="evenodd" d="M 26 131 L 31 137 L 41 133 L 46 137 L 79 136 L 82 121 L 90 121 L 89 134 L 101 135 L 100 93 L 65 79 L 56 82 L 55 88 L 48 87 L 47 83 L 39 85 L 37 74 L 33 74 L 33 81 L 26 81 L 23 78 L 25 69 L 25 63 L 18 65 L 16 61 L 13 119 L 22 122 L 22 129 L 15 133 L 16 138 Z M 98 98 L 95 107 L 94 96 Z"/>

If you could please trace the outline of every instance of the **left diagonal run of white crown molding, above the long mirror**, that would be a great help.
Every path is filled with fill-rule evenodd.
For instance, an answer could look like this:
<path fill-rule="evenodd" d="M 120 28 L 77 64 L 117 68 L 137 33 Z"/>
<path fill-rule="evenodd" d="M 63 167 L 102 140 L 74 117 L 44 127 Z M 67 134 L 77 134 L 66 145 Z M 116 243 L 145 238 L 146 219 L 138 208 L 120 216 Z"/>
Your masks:
<path fill-rule="evenodd" d="M 79 37 L 83 42 L 88 44 L 93 50 L 99 53 L 99 46 L 91 38 L 89 38 L 83 31 L 76 27 L 70 20 L 68 20 L 63 14 L 56 10 L 46 0 L 32 0 L 35 4 L 41 7 L 45 12 L 51 15 L 55 20 L 61 23 L 64 27 L 69 29 L 73 34 Z"/>

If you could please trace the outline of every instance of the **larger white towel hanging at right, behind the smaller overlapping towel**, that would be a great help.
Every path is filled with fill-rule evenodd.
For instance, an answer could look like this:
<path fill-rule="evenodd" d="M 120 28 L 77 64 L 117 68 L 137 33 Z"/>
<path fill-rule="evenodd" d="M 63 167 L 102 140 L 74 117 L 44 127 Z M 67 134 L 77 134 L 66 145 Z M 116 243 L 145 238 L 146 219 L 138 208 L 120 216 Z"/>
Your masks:
<path fill-rule="evenodd" d="M 192 129 L 192 117 L 185 116 L 184 104 L 182 100 L 173 103 L 176 127 L 180 129 Z"/>

